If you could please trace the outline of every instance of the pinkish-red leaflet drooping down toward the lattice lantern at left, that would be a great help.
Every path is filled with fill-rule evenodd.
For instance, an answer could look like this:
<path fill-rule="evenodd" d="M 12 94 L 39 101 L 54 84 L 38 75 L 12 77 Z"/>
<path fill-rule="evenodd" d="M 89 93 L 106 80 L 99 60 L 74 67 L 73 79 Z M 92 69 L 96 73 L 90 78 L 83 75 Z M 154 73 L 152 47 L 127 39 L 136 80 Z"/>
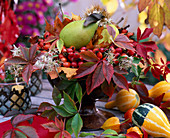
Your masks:
<path fill-rule="evenodd" d="M 29 83 L 29 79 L 31 78 L 32 72 L 33 72 L 33 65 L 28 64 L 24 66 L 24 69 L 22 71 L 22 77 L 27 84 Z"/>

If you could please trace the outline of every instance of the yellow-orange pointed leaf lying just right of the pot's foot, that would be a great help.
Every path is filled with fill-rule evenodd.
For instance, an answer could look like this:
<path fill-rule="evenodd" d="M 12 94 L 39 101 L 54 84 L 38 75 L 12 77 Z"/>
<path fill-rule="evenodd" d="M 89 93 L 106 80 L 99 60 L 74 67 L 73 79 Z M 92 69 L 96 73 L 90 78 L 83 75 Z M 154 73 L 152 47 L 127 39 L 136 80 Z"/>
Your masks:
<path fill-rule="evenodd" d="M 104 130 L 106 129 L 112 129 L 115 130 L 116 132 L 120 132 L 120 121 L 119 118 L 117 117 L 111 117 L 109 119 L 107 119 L 104 124 L 102 125 L 102 127 Z"/>

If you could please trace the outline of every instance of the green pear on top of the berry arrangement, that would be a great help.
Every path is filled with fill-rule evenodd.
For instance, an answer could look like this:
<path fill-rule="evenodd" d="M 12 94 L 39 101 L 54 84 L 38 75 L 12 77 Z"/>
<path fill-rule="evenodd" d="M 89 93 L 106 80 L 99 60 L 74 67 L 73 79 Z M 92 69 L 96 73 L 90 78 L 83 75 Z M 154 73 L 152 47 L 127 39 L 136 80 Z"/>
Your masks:
<path fill-rule="evenodd" d="M 97 23 L 92 23 L 84 27 L 85 20 L 74 21 L 67 24 L 60 32 L 60 38 L 64 41 L 65 47 L 75 46 L 80 49 L 86 46 L 93 38 L 98 28 Z"/>

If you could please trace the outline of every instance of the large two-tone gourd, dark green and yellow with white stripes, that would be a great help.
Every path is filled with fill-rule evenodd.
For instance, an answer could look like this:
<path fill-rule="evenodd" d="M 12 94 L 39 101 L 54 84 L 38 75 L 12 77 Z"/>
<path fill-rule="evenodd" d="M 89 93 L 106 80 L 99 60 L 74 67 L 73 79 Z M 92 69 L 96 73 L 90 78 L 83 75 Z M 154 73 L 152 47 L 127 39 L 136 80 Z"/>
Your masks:
<path fill-rule="evenodd" d="M 132 122 L 153 137 L 170 138 L 170 124 L 164 112 L 149 103 L 138 106 L 132 114 Z"/>

